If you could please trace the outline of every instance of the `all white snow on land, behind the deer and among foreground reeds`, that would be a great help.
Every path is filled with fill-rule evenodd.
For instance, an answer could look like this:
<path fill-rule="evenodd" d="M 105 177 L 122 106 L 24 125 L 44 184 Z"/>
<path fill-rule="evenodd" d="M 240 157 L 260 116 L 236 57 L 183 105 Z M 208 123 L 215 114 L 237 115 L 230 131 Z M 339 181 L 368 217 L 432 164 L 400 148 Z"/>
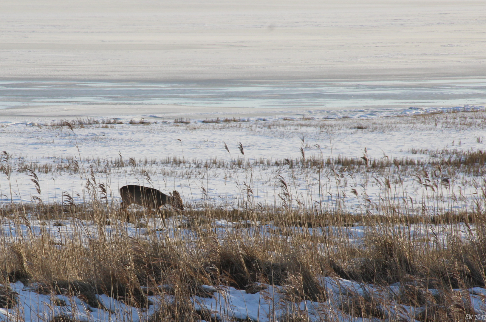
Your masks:
<path fill-rule="evenodd" d="M 445 210 L 468 211 L 471 207 L 482 206 L 478 193 L 484 188 L 484 177 L 468 173 L 465 169 L 448 172 L 444 167 L 443 173 L 433 176 L 432 173 L 438 173 L 438 170 L 425 164 L 420 169 L 430 173 L 426 177 L 423 173 L 418 174 L 419 168 L 413 167 L 399 172 L 395 165 L 384 170 L 364 165 L 343 169 L 339 165 L 334 175 L 329 165 L 317 170 L 291 167 L 285 162 L 275 164 L 275 161 L 284 159 L 301 159 L 302 152 L 306 159 L 327 160 L 338 156 L 359 159 L 366 155 L 369 159 L 408 157 L 425 162 L 441 157 L 443 149 L 456 152 L 484 149 L 486 112 L 483 106 L 441 110 L 407 108 L 393 117 L 384 117 L 380 109 L 374 111 L 375 115 L 368 113 L 366 117 L 352 118 L 311 119 L 299 115 L 268 115 L 219 123 L 203 122 L 209 118 L 191 119 L 187 124 L 174 123 L 169 117 L 154 116 L 144 118 L 150 123 L 140 124 L 137 123 L 139 115 L 133 116 L 137 118 L 135 124 L 130 124 L 132 118 L 126 117 L 117 118 L 116 121 L 122 124 L 103 124 L 102 120 L 108 118 L 97 117 L 93 119 L 99 120 L 99 124 L 74 125 L 72 131 L 66 125 L 59 126 L 62 125 L 62 122 L 57 123 L 60 119 L 4 116 L 0 128 L 1 150 L 8 154 L 2 154 L 2 166 L 11 166 L 12 172 L 8 177 L 5 173 L 1 176 L 0 194 L 4 203 L 10 202 L 11 196 L 15 202 L 30 202 L 31 196 L 37 196 L 44 202 L 62 203 L 65 201 L 63 194 L 67 191 L 76 202 L 82 202 L 87 180 L 92 181 L 94 177 L 95 184 L 103 183 L 108 187 L 108 198 L 115 202 L 119 201 L 120 186 L 135 183 L 153 185 L 164 191 L 177 189 L 186 205 L 193 207 L 237 207 L 239 201 L 248 197 L 255 206 L 280 205 L 283 203 L 279 197 L 283 193 L 280 179 L 283 179 L 290 188 L 295 207 L 300 204 L 308 206 L 316 201 L 328 206 L 336 204 L 333 199 L 336 191 L 347 194 L 344 209 L 351 213 L 373 212 L 373 204 L 378 206 L 383 200 L 404 205 L 404 199 L 409 197 L 414 204 L 419 203 L 422 210 L 424 204 L 429 207 L 430 214 Z M 340 110 L 335 112 L 341 113 Z M 52 123 L 58 126 L 48 126 Z M 244 155 L 239 151 L 239 142 L 242 143 Z M 431 155 L 433 152 L 437 155 Z M 183 159 L 186 162 L 181 162 Z M 74 167 L 76 162 L 77 166 Z M 30 168 L 35 169 L 38 176 L 40 194 L 30 180 L 32 176 L 24 171 Z M 390 187 L 385 184 L 387 178 Z M 449 186 L 442 184 L 444 178 L 450 179 Z M 423 183 L 435 184 L 435 188 L 426 188 Z M 248 193 L 248 187 L 251 193 Z M 354 195 L 351 189 L 356 189 L 358 195 Z M 478 200 L 479 203 L 475 203 Z M 375 210 L 380 212 L 378 208 Z M 35 240 L 41 235 L 50 236 L 52 242 L 62 248 L 62 245 L 73 240 L 88 244 L 101 231 L 103 236 L 110 237 L 110 234 L 119 234 L 120 229 L 132 238 L 182 238 L 187 243 L 199 238 L 192 229 L 183 228 L 183 223 L 188 220 L 184 216 L 165 220 L 141 219 L 137 224 L 111 222 L 106 226 L 69 216 L 66 220 L 42 220 L 37 219 L 35 213 L 28 213 L 26 219 L 27 222 L 19 222 L 15 218 L 2 218 L 2 240 L 18 242 Z M 140 223 L 144 225 L 140 226 Z M 213 220 L 209 222 L 209 227 L 220 240 L 233 234 L 243 239 L 257 235 L 262 240 L 287 238 L 278 233 L 281 227 L 271 222 Z M 290 231 L 302 234 L 300 227 L 285 229 L 287 234 Z M 446 248 L 450 240 L 457 238 L 468 242 L 474 236 L 474 229 L 474 225 L 465 223 L 411 224 L 392 228 L 406 232 L 415 245 Z M 370 234 L 389 231 L 390 227 L 381 228 L 380 225 L 351 225 L 309 228 L 307 234 L 332 237 L 335 238 L 334 242 L 341 242 L 342 245 L 363 247 L 365 238 Z M 329 249 L 330 245 L 316 246 L 324 250 Z M 348 315 L 341 308 L 352 301 L 352 297 L 370 294 L 377 307 L 390 320 L 414 321 L 426 308 L 399 304 L 399 285 L 364 285 L 332 277 L 321 277 L 320 282 L 328 295 L 325 303 L 289 302 L 285 288 L 272 285 L 263 285 L 264 289 L 255 294 L 232 287 L 203 286 L 213 295 L 207 298 L 195 296 L 191 298 L 191 303 L 196 311 L 210 312 L 210 315 L 222 321 L 276 321 L 280 316 L 302 312 L 311 321 L 366 321 Z M 149 296 L 155 304 L 148 309 L 139 309 L 107 295 L 97 295 L 104 307 L 94 308 L 82 298 L 69 294 L 55 295 L 55 298 L 52 294 L 38 294 L 35 284 L 17 282 L 10 284 L 10 288 L 18 293 L 19 304 L 12 308 L 0 308 L 1 319 L 5 321 L 51 321 L 54 316 L 70 317 L 76 321 L 143 321 L 157 310 L 157 305 L 162 301 L 174 301 L 171 295 Z M 434 296 L 441 290 L 428 289 L 427 292 Z M 486 313 L 486 289 L 456 289 L 452 292 L 455 292 L 454 296 L 463 298 L 464 303 L 470 303 L 476 314 Z"/>

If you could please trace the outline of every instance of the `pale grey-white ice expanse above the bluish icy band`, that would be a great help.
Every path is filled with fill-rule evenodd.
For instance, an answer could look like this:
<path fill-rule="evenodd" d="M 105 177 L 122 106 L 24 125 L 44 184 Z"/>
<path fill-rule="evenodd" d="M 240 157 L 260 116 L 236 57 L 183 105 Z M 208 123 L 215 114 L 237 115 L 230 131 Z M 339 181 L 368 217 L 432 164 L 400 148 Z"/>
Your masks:
<path fill-rule="evenodd" d="M 2 4 L 1 79 L 484 77 L 482 0 Z"/>

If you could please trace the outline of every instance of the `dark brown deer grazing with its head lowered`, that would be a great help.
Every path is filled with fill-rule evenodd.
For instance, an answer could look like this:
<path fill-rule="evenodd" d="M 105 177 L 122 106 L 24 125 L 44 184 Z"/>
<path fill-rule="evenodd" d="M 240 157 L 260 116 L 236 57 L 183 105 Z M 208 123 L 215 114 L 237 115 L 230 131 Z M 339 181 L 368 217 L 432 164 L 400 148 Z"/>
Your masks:
<path fill-rule="evenodd" d="M 142 207 L 153 208 L 160 212 L 164 204 L 171 204 L 174 207 L 184 210 L 182 198 L 177 190 L 172 191 L 170 196 L 157 189 L 148 186 L 128 185 L 120 188 L 121 210 L 125 210 L 132 203 Z"/>

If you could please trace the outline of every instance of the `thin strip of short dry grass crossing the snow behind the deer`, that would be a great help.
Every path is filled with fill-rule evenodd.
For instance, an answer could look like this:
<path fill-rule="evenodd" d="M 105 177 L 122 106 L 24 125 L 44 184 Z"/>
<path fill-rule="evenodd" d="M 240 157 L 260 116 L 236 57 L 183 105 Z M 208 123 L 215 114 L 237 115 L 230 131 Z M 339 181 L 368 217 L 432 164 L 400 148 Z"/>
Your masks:
<path fill-rule="evenodd" d="M 321 155 L 311 155 L 305 158 L 256 158 L 245 159 L 243 157 L 226 160 L 224 158 L 212 157 L 209 159 L 187 159 L 180 157 L 165 158 L 93 158 L 85 157 L 82 162 L 85 167 L 93 169 L 95 173 L 107 173 L 111 169 L 133 168 L 137 174 L 142 171 L 149 173 L 160 172 L 165 166 L 185 167 L 187 169 L 249 169 L 260 167 L 262 169 L 311 169 L 317 172 L 321 169 L 340 172 L 371 172 L 375 175 L 385 175 L 389 169 L 396 167 L 397 173 L 402 176 L 410 176 L 412 173 L 431 172 L 431 176 L 446 176 L 458 178 L 461 175 L 481 177 L 485 175 L 486 152 L 442 150 L 440 152 L 423 151 L 423 154 L 430 154 L 430 158 L 424 159 L 413 157 L 400 158 L 363 158 L 347 157 L 337 155 L 323 158 Z M 12 167 L 17 172 L 28 172 L 32 170 L 40 173 L 78 173 L 80 162 L 74 156 L 52 156 L 50 162 L 44 163 L 26 158 L 15 158 L 12 156 Z M 339 166 L 339 168 L 336 168 Z M 5 169 L 5 164 L 0 164 L 0 170 Z"/>

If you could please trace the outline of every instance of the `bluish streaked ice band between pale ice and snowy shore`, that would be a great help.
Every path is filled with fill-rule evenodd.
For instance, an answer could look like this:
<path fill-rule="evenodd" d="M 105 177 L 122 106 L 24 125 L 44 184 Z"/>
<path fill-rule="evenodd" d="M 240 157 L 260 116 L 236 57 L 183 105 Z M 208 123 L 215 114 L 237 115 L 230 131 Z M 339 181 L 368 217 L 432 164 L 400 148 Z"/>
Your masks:
<path fill-rule="evenodd" d="M 447 108 L 486 103 L 486 80 L 364 81 L 364 82 L 245 82 L 206 81 L 177 83 L 26 82 L 0 83 L 0 108 L 76 107 L 80 115 L 117 116 L 119 107 L 133 115 L 146 108 L 163 117 L 164 106 L 186 107 L 188 117 L 210 111 L 251 116 L 278 113 L 312 114 L 316 118 L 369 117 L 402 113 L 409 107 Z M 235 108 L 237 110 L 235 110 Z M 174 111 L 170 111 L 172 114 Z M 180 113 L 181 111 L 179 111 Z M 25 115 L 25 112 L 18 113 Z M 76 114 L 74 112 L 74 114 Z M 145 115 L 145 116 L 150 116 Z M 170 117 L 169 115 L 167 117 Z"/>

